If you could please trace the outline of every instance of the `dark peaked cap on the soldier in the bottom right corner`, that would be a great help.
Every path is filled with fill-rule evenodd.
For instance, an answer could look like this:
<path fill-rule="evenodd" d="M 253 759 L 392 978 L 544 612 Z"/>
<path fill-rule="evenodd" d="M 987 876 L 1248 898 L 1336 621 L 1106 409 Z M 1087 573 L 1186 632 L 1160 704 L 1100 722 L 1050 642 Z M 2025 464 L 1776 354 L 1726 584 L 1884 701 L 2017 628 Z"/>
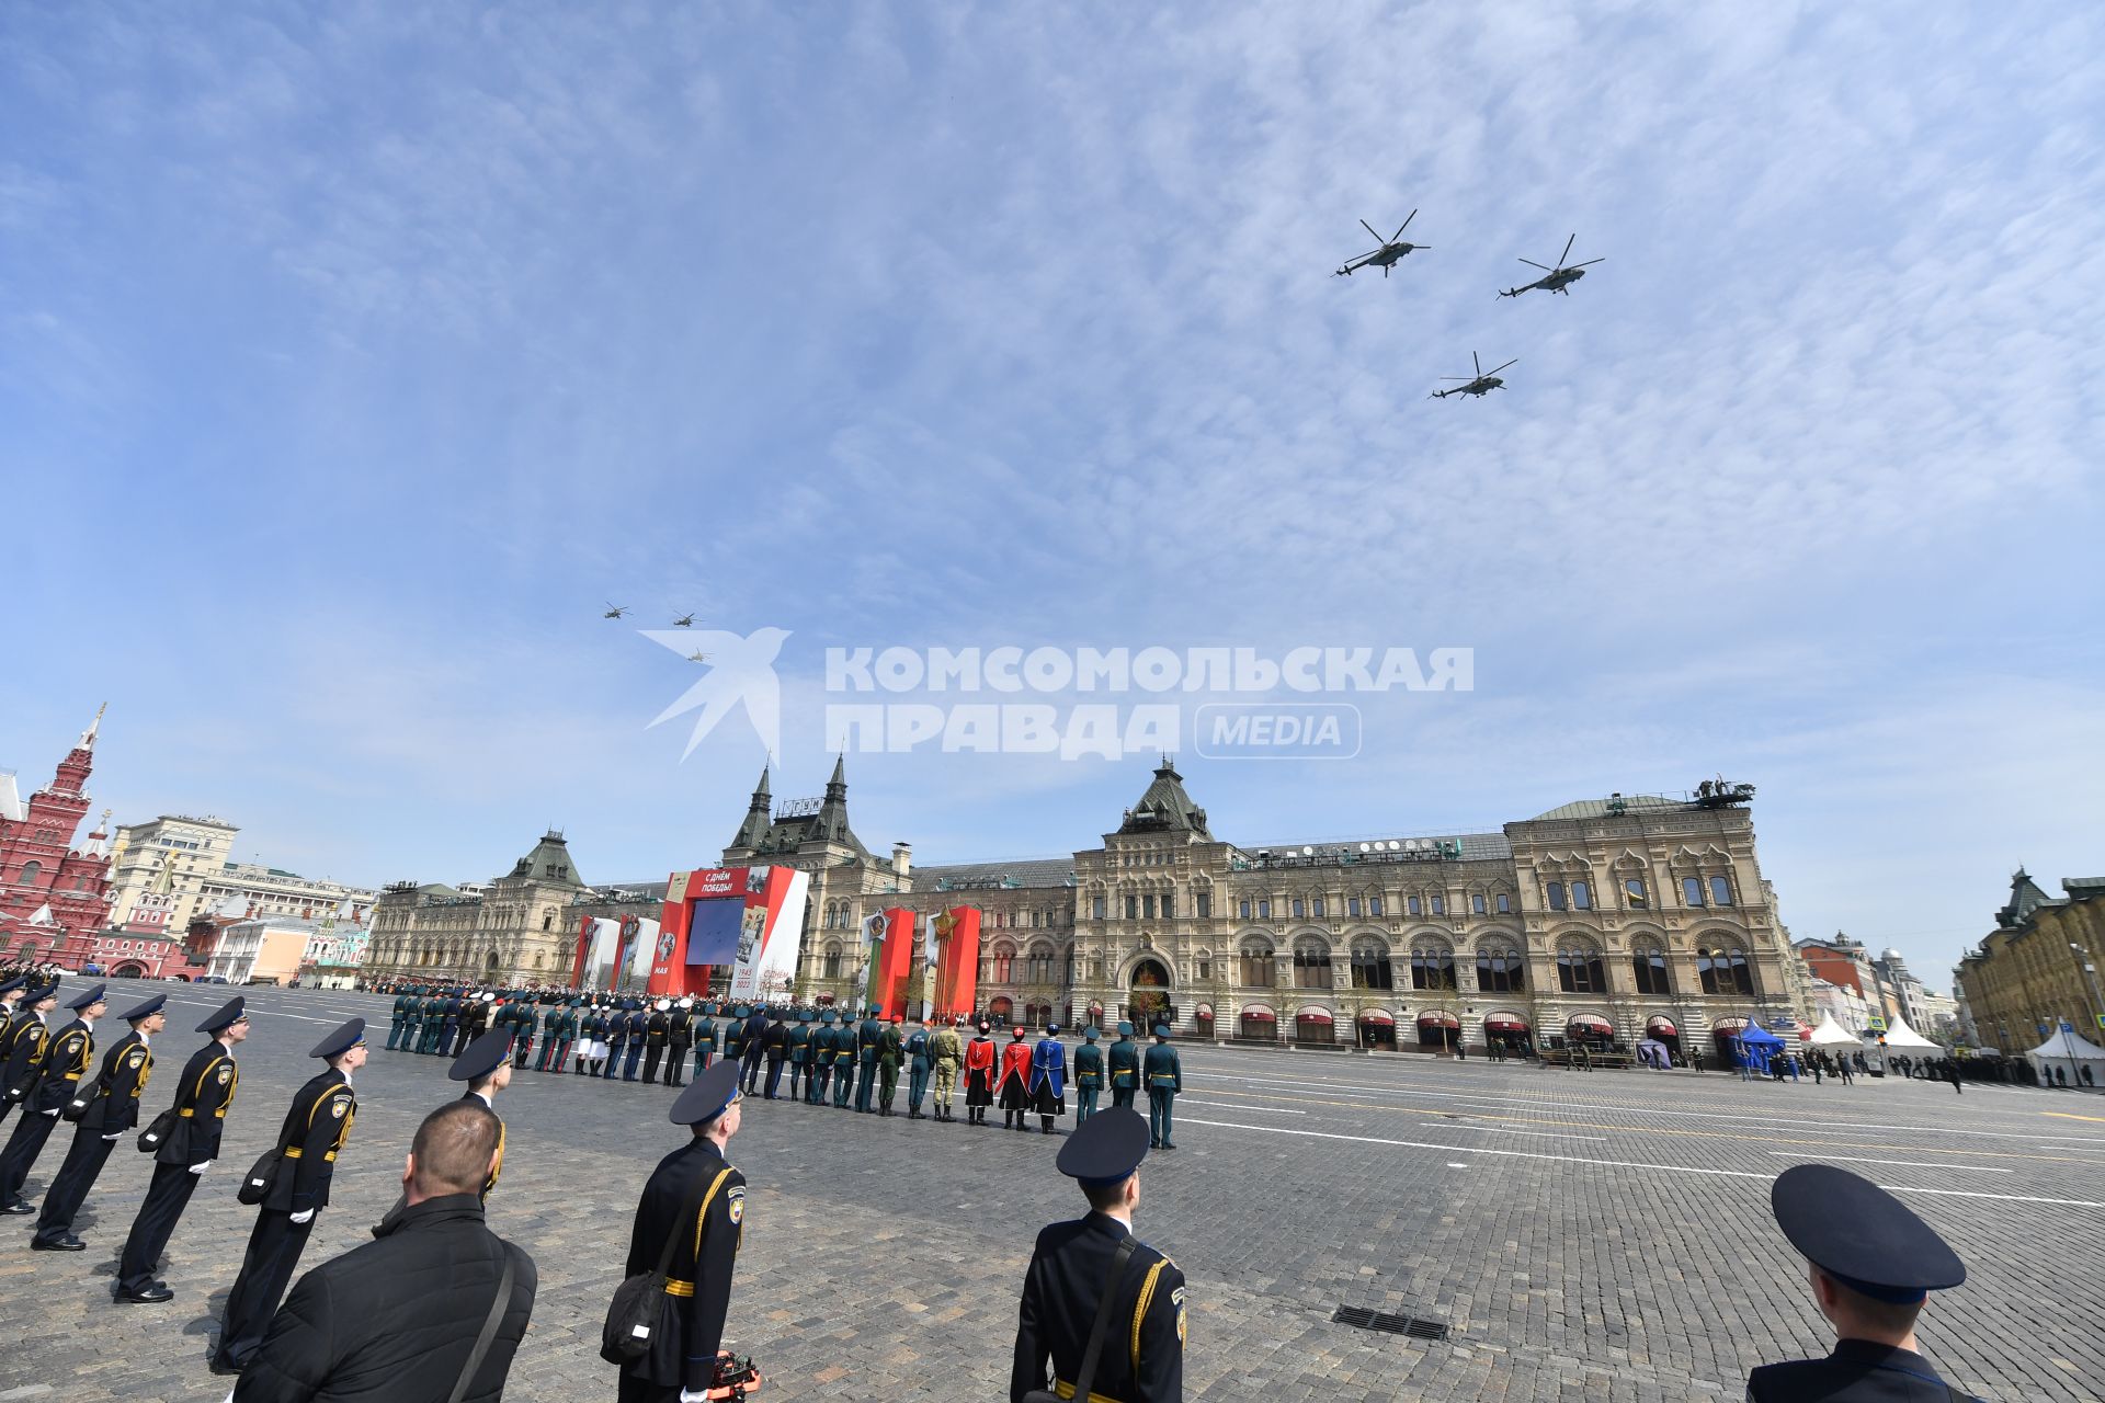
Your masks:
<path fill-rule="evenodd" d="M 1768 1207 L 1802 1258 L 1871 1300 L 1913 1304 L 1966 1281 L 1930 1224 L 1848 1170 L 1791 1165 L 1768 1186 Z"/>

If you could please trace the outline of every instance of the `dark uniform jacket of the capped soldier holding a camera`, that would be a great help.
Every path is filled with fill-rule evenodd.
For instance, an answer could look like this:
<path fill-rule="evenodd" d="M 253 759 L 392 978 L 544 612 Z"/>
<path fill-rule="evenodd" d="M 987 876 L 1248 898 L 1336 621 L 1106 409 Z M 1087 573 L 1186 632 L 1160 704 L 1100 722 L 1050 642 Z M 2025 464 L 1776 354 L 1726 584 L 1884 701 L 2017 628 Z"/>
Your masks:
<path fill-rule="evenodd" d="M 703 1184 L 703 1205 L 686 1216 L 695 1182 Z M 625 1275 L 657 1270 L 667 1235 L 674 1237 L 665 1289 L 680 1298 L 680 1327 L 659 1331 L 650 1353 L 627 1365 L 659 1388 L 701 1392 L 716 1376 L 716 1350 L 724 1344 L 724 1313 L 730 1310 L 730 1273 L 739 1260 L 745 1222 L 745 1176 L 724 1163 L 707 1136 L 695 1136 L 659 1161 L 636 1205 Z"/>

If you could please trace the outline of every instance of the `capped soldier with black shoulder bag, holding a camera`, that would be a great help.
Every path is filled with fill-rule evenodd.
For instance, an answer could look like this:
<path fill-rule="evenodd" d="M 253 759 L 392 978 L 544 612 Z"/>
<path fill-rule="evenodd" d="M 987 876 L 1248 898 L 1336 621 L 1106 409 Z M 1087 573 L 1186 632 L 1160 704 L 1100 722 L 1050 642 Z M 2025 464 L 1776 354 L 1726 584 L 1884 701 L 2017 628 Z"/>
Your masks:
<path fill-rule="evenodd" d="M 699 1399 L 716 1382 L 745 1222 L 745 1176 L 724 1159 L 743 1117 L 739 1073 L 726 1058 L 680 1092 L 669 1119 L 690 1127 L 690 1140 L 659 1161 L 636 1203 L 623 1275 L 657 1270 L 665 1243 L 676 1243 L 665 1292 L 680 1308 L 674 1329 L 659 1331 L 642 1359 L 621 1365 L 621 1403 Z M 697 1197 L 701 1207 L 690 1207 Z"/>

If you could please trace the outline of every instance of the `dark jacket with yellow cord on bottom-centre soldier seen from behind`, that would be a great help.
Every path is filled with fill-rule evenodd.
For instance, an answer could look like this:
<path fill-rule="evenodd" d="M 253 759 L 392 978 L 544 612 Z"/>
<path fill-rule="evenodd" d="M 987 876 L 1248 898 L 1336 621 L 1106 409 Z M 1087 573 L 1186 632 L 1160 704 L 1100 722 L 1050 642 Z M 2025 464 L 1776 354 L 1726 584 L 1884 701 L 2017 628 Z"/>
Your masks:
<path fill-rule="evenodd" d="M 1088 1353 L 1088 1327 L 1097 1323 L 1103 1279 L 1111 1270 L 1126 1224 L 1109 1214 L 1055 1222 L 1038 1235 L 1031 1266 L 1023 1275 L 1023 1304 L 1017 1310 L 1017 1361 L 1008 1374 L 1008 1399 L 1021 1403 L 1031 1388 L 1052 1376 L 1071 1395 Z M 1103 1329 L 1103 1353 L 1090 1399 L 1114 1403 L 1181 1403 L 1183 1399 L 1183 1273 L 1147 1243 L 1135 1243 L 1111 1300 Z"/>

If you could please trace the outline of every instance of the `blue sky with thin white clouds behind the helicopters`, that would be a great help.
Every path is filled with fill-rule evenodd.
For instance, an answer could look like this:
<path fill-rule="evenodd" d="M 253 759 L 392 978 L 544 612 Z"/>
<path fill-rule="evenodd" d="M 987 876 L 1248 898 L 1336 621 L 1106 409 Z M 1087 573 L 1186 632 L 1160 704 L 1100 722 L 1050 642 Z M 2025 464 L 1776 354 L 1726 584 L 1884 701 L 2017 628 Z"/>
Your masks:
<path fill-rule="evenodd" d="M 650 724 L 676 614 L 785 631 L 777 799 L 960 700 L 827 648 L 1467 648 L 1349 759 L 1179 736 L 1215 833 L 1724 774 L 1793 936 L 1943 987 L 2105 873 L 2101 90 L 2052 4 L 6 6 L 0 766 L 107 703 L 118 822 L 655 879 L 768 751 Z M 1154 764 L 846 757 L 918 862 Z"/>

